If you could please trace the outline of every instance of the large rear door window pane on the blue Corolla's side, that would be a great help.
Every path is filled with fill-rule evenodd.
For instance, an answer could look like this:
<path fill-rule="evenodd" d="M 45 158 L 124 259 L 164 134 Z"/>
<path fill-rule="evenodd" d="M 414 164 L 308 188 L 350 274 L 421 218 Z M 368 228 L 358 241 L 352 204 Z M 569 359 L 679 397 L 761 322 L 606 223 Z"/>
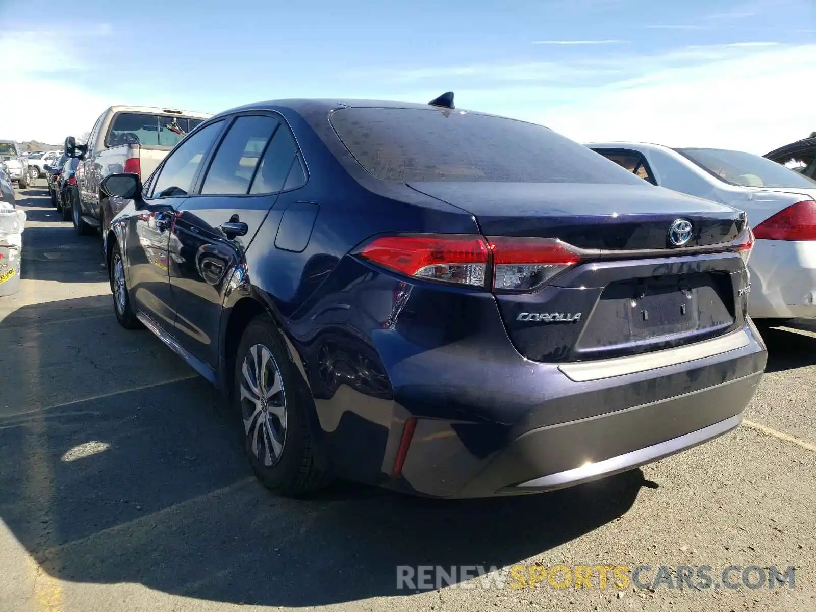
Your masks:
<path fill-rule="evenodd" d="M 237 118 L 215 153 L 201 193 L 246 195 L 266 144 L 279 123 L 268 115 Z"/>

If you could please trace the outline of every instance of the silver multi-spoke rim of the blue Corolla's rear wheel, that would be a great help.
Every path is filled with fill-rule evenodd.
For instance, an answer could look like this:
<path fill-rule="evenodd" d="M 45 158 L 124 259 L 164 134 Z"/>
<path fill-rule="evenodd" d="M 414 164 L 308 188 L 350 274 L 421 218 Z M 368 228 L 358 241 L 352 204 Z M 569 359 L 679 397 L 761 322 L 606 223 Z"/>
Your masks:
<path fill-rule="evenodd" d="M 241 368 L 241 412 L 252 454 L 266 466 L 279 459 L 286 442 L 286 392 L 271 351 L 253 345 Z"/>

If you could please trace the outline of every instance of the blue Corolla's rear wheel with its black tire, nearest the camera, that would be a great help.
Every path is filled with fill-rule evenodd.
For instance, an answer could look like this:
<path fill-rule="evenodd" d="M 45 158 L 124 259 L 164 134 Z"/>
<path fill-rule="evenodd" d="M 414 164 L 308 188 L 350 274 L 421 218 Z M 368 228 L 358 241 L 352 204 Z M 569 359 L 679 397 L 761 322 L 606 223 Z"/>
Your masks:
<path fill-rule="evenodd" d="M 269 396 L 266 401 L 254 401 L 242 394 L 244 386 L 249 391 L 247 395 L 255 393 L 253 397 L 259 397 L 258 393 L 252 391 L 253 383 L 246 382 L 243 366 L 245 361 L 248 364 L 258 363 L 255 357 L 264 348 L 271 359 L 265 361 L 267 366 L 256 390 L 261 389 L 264 395 L 266 392 L 273 392 L 273 388 L 267 388 L 276 384 L 274 373 L 277 372 L 281 391 Z M 261 361 L 264 361 L 263 358 Z M 254 365 L 248 366 L 248 370 L 257 384 Z M 235 356 L 233 403 L 237 415 L 242 419 L 244 448 L 252 471 L 269 490 L 287 497 L 307 494 L 326 486 L 332 480 L 327 472 L 318 467 L 315 460 L 317 441 L 310 419 L 312 408 L 301 398 L 298 376 L 295 364 L 287 356 L 281 334 L 272 319 L 268 315 L 255 317 L 246 327 Z M 281 400 L 283 419 L 278 414 Z M 277 452 L 271 442 L 273 437 L 280 445 Z"/>

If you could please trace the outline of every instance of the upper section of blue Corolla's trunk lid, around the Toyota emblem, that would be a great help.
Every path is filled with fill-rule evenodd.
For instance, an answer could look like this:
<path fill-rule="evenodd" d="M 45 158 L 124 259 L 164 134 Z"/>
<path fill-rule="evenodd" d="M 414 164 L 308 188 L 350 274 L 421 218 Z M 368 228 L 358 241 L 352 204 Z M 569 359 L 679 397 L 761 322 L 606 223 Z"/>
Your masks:
<path fill-rule="evenodd" d="M 412 183 L 411 188 L 472 213 L 486 236 L 557 237 L 584 249 L 665 249 L 682 217 L 694 226 L 688 246 L 737 236 L 740 211 L 644 181 L 641 185 Z"/>

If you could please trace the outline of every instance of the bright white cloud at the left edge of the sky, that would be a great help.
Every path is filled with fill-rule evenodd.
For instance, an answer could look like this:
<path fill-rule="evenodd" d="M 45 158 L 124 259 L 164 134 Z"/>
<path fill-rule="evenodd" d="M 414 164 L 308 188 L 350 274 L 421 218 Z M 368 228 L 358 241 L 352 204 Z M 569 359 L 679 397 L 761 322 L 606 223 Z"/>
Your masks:
<path fill-rule="evenodd" d="M 110 33 L 109 25 L 96 24 L 73 30 L 72 36 L 98 42 Z M 3 88 L 14 95 L 3 100 L 2 138 L 60 144 L 65 136 L 90 130 L 111 104 L 103 93 L 73 82 L 92 67 L 78 49 L 61 47 L 57 41 L 63 39 L 64 33 L 56 30 L 0 32 L 0 48 L 20 50 L 25 57 L 24 62 L 7 63 L 3 69 Z"/>

